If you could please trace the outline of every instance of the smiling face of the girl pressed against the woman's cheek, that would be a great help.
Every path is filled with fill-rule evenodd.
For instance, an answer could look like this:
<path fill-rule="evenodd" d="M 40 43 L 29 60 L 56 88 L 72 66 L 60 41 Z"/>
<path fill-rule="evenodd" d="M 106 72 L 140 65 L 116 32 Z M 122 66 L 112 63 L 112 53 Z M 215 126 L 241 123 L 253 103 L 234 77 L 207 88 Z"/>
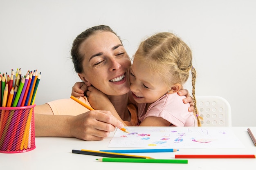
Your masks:
<path fill-rule="evenodd" d="M 149 66 L 135 59 L 130 68 L 130 90 L 137 103 L 153 103 L 167 93 L 168 87 L 157 73 L 151 73 Z"/>

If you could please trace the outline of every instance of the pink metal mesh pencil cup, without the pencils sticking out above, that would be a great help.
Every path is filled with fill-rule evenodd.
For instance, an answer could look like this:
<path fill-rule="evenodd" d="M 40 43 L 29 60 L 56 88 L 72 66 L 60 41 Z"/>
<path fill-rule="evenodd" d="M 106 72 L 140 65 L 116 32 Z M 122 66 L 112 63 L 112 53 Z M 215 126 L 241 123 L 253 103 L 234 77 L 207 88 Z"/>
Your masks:
<path fill-rule="evenodd" d="M 0 152 L 20 153 L 36 148 L 34 107 L 0 107 Z"/>

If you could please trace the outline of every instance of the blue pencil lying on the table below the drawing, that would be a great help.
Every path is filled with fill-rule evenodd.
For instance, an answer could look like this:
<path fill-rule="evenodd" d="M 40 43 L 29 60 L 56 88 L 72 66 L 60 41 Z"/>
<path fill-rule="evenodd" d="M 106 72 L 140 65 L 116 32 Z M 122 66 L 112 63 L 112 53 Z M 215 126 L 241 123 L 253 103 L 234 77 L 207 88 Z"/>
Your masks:
<path fill-rule="evenodd" d="M 149 153 L 149 152 L 176 152 L 178 149 L 131 149 L 131 150 L 99 150 L 113 153 Z"/>

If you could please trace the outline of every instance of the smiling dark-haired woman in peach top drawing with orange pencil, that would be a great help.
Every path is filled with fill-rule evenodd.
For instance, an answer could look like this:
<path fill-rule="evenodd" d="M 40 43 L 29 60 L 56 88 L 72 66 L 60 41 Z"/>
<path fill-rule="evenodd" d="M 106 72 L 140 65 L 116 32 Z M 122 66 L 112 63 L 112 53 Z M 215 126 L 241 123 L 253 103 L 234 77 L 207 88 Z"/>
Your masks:
<path fill-rule="evenodd" d="M 87 29 L 74 40 L 71 55 L 74 68 L 83 82 L 108 95 L 121 119 L 127 124 L 134 123 L 131 114 L 134 108 L 127 107 L 131 61 L 117 34 L 104 25 Z M 188 91 L 183 90 L 179 94 L 188 95 Z M 80 99 L 88 104 L 86 97 Z M 191 97 L 187 97 L 184 102 L 192 102 Z M 189 109 L 193 111 L 193 106 Z M 89 111 L 72 99 L 36 106 L 35 113 L 37 137 L 102 140 L 115 127 L 124 126 L 109 111 Z"/>

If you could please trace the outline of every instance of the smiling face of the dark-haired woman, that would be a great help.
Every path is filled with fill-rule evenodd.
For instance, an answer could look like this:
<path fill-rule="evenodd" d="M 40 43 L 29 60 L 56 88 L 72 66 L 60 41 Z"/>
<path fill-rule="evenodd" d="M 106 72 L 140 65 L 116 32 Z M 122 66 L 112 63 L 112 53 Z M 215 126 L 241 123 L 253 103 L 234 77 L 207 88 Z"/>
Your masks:
<path fill-rule="evenodd" d="M 79 53 L 84 55 L 83 73 L 79 77 L 87 86 L 92 85 L 106 95 L 130 91 L 131 61 L 117 35 L 106 31 L 91 35 L 80 45 Z"/>

